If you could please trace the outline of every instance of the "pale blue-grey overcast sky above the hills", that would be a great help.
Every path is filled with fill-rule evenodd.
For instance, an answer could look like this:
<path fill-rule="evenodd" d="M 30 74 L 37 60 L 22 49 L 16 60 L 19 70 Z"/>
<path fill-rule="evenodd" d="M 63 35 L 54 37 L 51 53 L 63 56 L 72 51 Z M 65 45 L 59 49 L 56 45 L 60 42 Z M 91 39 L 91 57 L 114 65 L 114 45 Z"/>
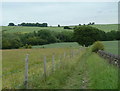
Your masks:
<path fill-rule="evenodd" d="M 24 0 L 25 1 L 25 0 Z M 112 0 L 111 0 L 112 1 Z M 117 0 L 116 0 L 117 1 Z M 3 2 L 2 24 L 78 25 L 118 23 L 118 2 Z"/>

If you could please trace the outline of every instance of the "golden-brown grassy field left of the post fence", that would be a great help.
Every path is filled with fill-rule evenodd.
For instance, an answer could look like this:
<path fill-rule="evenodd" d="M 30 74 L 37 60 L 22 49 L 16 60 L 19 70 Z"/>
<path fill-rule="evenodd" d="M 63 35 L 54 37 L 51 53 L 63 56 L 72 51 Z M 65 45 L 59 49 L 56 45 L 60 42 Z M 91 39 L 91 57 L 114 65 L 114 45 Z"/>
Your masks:
<path fill-rule="evenodd" d="M 74 49 L 74 51 L 77 50 L 78 49 Z M 62 60 L 65 60 L 63 59 L 65 52 L 67 57 L 66 62 L 68 62 L 67 65 L 68 66 L 74 65 L 76 59 L 72 59 L 73 62 L 71 61 L 71 58 L 69 56 L 71 53 L 70 48 L 3 50 L 3 59 L 2 59 L 3 88 L 21 88 L 24 81 L 24 66 L 25 66 L 26 54 L 29 54 L 29 81 L 33 81 L 35 76 L 39 76 L 39 78 L 43 76 L 44 55 L 47 56 L 47 73 L 49 74 L 51 72 L 53 53 L 55 53 L 55 64 L 56 64 L 55 66 L 59 67 L 60 57 L 62 57 Z M 78 55 L 78 57 L 79 56 L 80 55 Z M 68 70 L 70 71 L 70 69 Z M 68 71 L 66 71 L 66 74 L 67 72 Z M 30 87 L 34 88 L 33 85 L 34 84 L 30 84 Z"/>

